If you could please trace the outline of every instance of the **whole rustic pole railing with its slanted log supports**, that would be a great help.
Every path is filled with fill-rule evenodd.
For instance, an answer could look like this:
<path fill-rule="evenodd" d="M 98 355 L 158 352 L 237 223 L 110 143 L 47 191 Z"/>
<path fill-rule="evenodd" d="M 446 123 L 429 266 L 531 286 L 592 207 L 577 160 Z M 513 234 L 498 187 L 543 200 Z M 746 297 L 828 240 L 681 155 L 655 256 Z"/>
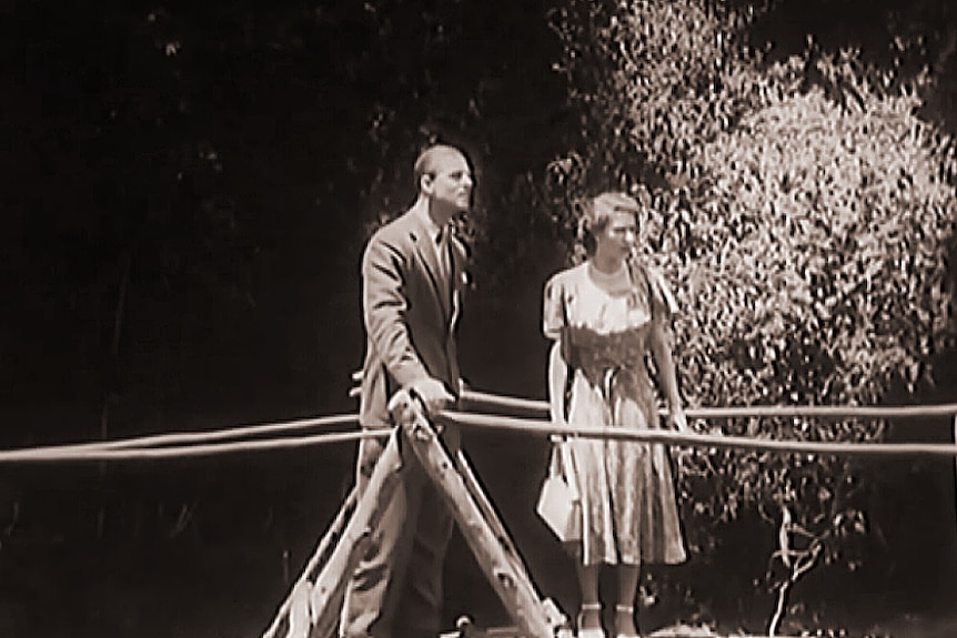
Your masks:
<path fill-rule="evenodd" d="M 354 393 L 353 393 L 354 394 Z M 172 433 L 135 438 L 51 445 L 0 450 L 2 464 L 161 460 L 234 453 L 306 448 L 390 437 L 373 478 L 362 497 L 345 500 L 321 539 L 302 575 L 263 638 L 328 638 L 334 631 L 343 588 L 366 550 L 382 516 L 384 504 L 397 485 L 399 437 L 409 442 L 416 459 L 445 495 L 450 509 L 466 537 L 476 560 L 515 620 L 515 632 L 527 638 L 570 636 L 567 618 L 550 599 L 542 599 L 512 544 L 495 508 L 482 492 L 463 454 L 454 458 L 435 434 L 422 409 L 404 393 L 394 397 L 394 431 L 329 432 L 330 427 L 355 425 L 357 417 L 338 415 L 280 423 L 245 425 L 200 433 Z M 482 411 L 477 413 L 476 411 Z M 490 411 L 492 413 L 490 413 Z M 513 415 L 501 415 L 506 412 Z M 514 416 L 517 413 L 525 416 Z M 924 406 L 737 406 L 688 408 L 689 421 L 735 418 L 814 419 L 915 419 L 951 417 L 957 442 L 957 404 Z M 463 389 L 457 409 L 435 415 L 439 424 L 498 432 L 521 432 L 542 437 L 578 436 L 661 443 L 707 448 L 741 448 L 780 454 L 917 456 L 954 458 L 957 443 L 880 443 L 832 440 L 775 440 L 759 436 L 679 433 L 663 429 L 635 431 L 552 423 L 547 402 Z M 314 433 L 313 431 L 320 432 Z M 715 428 L 709 428 L 714 432 Z M 309 433 L 309 434 L 306 434 Z"/>

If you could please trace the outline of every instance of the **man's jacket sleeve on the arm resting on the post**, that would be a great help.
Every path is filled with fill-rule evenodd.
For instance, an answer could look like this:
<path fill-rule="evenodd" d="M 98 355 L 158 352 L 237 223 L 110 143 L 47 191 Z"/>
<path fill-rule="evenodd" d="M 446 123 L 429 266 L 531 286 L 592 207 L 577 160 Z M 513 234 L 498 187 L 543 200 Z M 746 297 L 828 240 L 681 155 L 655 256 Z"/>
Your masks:
<path fill-rule="evenodd" d="M 409 328 L 409 260 L 387 239 L 373 236 L 362 259 L 362 312 L 379 359 L 402 386 L 427 378 Z"/>

